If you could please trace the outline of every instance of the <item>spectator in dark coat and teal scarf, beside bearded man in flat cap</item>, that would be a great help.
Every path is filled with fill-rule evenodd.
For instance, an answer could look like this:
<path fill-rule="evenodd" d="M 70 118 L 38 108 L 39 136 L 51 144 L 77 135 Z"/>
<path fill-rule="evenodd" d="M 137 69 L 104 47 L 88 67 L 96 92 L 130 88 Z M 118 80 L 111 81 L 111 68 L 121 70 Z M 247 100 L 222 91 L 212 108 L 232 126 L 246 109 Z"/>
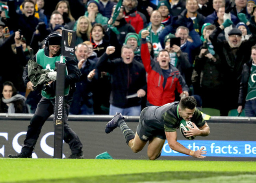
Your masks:
<path fill-rule="evenodd" d="M 205 42 L 200 49 L 199 55 L 195 59 L 195 71 L 198 73 L 200 81 L 200 93 L 203 107 L 220 109 L 223 96 L 222 66 L 219 55 L 213 49 L 209 35 L 214 31 L 214 25 L 206 26 Z"/>

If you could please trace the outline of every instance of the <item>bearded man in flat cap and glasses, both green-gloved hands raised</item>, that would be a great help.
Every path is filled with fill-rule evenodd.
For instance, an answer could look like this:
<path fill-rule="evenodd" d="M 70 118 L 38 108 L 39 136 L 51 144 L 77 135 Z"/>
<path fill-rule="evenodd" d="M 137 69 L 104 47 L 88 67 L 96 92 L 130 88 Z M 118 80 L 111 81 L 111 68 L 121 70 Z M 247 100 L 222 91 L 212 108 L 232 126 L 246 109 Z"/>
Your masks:
<path fill-rule="evenodd" d="M 232 22 L 227 19 L 225 22 L 217 27 L 210 35 L 210 41 L 214 50 L 220 56 L 224 69 L 224 91 L 229 91 L 226 95 L 226 115 L 228 110 L 237 108 L 237 100 L 239 95 L 239 87 L 241 80 L 241 72 L 243 64 L 250 60 L 251 47 L 256 44 L 255 26 L 250 24 L 246 15 L 239 13 L 238 17 L 241 22 L 245 23 L 252 33 L 249 40 L 242 41 L 242 32 L 237 29 L 231 29 L 228 33 L 228 41 L 217 40 L 219 33 L 225 28 L 232 25 Z"/>

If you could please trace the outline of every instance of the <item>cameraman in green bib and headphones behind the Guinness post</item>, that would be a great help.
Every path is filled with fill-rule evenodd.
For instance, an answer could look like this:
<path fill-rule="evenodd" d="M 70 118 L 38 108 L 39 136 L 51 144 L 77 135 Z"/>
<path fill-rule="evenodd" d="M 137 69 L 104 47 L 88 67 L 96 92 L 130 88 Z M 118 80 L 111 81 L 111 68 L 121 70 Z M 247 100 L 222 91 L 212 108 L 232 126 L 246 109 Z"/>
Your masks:
<path fill-rule="evenodd" d="M 41 132 L 41 128 L 44 125 L 45 121 L 54 113 L 54 103 L 55 103 L 55 81 L 56 77 L 53 77 L 53 72 L 55 68 L 55 63 L 60 60 L 61 54 L 61 34 L 57 32 L 52 32 L 45 39 L 45 48 L 40 49 L 34 57 L 37 64 L 40 64 L 44 70 L 50 70 L 51 76 L 48 74 L 49 81 L 44 85 L 41 94 L 43 98 L 37 105 L 35 114 L 33 115 L 30 125 L 28 126 L 28 131 L 26 138 L 24 140 L 24 145 L 22 146 L 21 152 L 17 155 L 9 155 L 11 158 L 32 158 L 32 152 L 37 143 L 37 139 Z M 82 152 L 82 143 L 78 138 L 78 135 L 69 127 L 67 123 L 69 115 L 69 105 L 72 101 L 72 96 L 74 92 L 75 82 L 78 82 L 80 78 L 80 71 L 78 70 L 77 63 L 67 58 L 66 61 L 66 75 L 65 75 L 65 104 L 64 104 L 64 141 L 69 144 L 72 154 L 69 158 L 72 159 L 81 159 L 83 158 Z M 33 65 L 34 66 L 34 65 Z M 29 66 L 26 66 L 23 73 L 23 79 L 27 88 L 31 91 L 34 91 L 34 84 L 37 84 L 35 81 L 33 83 L 28 77 L 28 72 L 33 74 L 31 69 L 28 70 Z M 39 67 L 38 67 L 39 68 Z M 42 70 L 40 70 L 42 72 Z"/>

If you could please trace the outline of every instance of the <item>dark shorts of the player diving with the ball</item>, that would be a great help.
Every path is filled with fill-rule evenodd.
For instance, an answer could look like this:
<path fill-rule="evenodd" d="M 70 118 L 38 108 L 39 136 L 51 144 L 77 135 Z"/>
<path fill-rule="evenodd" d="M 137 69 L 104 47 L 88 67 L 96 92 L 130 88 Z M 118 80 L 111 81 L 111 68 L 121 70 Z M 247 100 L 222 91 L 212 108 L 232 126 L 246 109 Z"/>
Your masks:
<path fill-rule="evenodd" d="M 158 137 L 165 140 L 165 130 L 163 124 L 153 118 L 151 108 L 155 106 L 146 107 L 141 111 L 139 124 L 137 126 L 137 134 L 142 141 L 150 141 L 153 137 Z"/>

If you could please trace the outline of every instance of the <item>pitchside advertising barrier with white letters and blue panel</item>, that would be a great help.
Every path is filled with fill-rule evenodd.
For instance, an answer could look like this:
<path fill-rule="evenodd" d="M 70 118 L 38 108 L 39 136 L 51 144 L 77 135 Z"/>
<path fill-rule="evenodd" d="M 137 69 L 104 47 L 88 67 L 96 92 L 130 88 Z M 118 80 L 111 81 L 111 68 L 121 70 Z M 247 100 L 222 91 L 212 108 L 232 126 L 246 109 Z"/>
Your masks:
<path fill-rule="evenodd" d="M 0 157 L 20 152 L 25 139 L 27 126 L 32 114 L 0 113 Z M 69 125 L 78 134 L 83 143 L 83 154 L 87 159 L 94 159 L 98 154 L 108 152 L 113 159 L 148 159 L 147 145 L 139 153 L 133 153 L 126 145 L 121 130 L 117 128 L 106 134 L 106 123 L 110 115 L 70 115 Z M 124 116 L 128 126 L 136 131 L 138 116 Z M 210 135 L 196 137 L 189 141 L 177 130 L 178 142 L 197 150 L 205 147 L 204 160 L 220 161 L 256 161 L 256 117 L 211 117 L 207 120 Z M 33 158 L 52 158 L 54 154 L 53 115 L 45 122 L 39 135 Z M 70 155 L 69 146 L 64 143 L 63 157 Z M 201 160 L 180 154 L 169 148 L 167 141 L 159 159 L 163 160 Z"/>

